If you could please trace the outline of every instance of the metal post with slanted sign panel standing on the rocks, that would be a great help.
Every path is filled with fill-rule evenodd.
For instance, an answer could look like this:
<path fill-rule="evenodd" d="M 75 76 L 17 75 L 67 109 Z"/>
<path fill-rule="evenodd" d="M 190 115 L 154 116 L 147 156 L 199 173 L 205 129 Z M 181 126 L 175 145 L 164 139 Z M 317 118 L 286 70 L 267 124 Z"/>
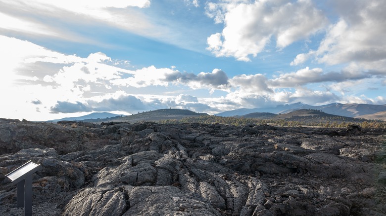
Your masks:
<path fill-rule="evenodd" d="M 41 168 L 40 164 L 28 161 L 5 175 L 17 184 L 17 208 L 24 207 L 25 216 L 32 216 L 32 174 Z"/>

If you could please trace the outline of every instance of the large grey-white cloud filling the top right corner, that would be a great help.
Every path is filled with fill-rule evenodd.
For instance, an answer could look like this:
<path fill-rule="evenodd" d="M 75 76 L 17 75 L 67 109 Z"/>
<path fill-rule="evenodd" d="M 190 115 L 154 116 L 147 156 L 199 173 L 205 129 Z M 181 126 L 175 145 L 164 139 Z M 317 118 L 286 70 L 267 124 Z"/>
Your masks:
<path fill-rule="evenodd" d="M 296 56 L 291 65 L 314 58 L 318 63 L 355 63 L 363 71 L 386 70 L 386 5 L 382 0 L 331 2 L 339 19 L 327 29 L 318 49 Z"/>

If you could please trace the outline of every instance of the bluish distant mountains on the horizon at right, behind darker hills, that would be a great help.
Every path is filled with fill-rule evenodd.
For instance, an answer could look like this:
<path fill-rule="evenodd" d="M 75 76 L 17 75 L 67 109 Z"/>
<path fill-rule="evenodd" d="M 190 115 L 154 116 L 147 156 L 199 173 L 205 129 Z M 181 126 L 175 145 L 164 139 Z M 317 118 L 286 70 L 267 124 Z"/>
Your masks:
<path fill-rule="evenodd" d="M 215 114 L 216 116 L 242 116 L 253 112 L 271 112 L 275 114 L 289 113 L 299 109 L 318 109 L 325 113 L 340 115 L 346 117 L 358 117 L 362 115 L 374 114 L 386 111 L 386 105 L 369 105 L 369 104 L 327 104 L 322 106 L 311 106 L 303 103 L 279 105 L 275 108 L 241 108 Z M 376 118 L 381 120 L 380 118 Z"/>

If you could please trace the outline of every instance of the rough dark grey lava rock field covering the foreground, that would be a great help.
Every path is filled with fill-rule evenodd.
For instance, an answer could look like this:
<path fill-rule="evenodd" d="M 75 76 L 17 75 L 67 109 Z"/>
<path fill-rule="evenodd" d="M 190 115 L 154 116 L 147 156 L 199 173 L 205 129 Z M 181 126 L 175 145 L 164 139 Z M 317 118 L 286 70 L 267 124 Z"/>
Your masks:
<path fill-rule="evenodd" d="M 47 215 L 386 214 L 385 130 L 2 119 L 0 149 L 0 215 L 28 160 Z"/>

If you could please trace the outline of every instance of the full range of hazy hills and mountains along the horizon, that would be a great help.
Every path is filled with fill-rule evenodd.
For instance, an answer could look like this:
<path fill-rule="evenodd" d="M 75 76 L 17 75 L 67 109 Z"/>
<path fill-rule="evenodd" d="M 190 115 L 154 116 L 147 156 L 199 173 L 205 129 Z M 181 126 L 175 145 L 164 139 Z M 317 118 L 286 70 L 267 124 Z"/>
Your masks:
<path fill-rule="evenodd" d="M 286 114 L 301 109 L 320 110 L 327 114 L 352 117 L 366 118 L 373 120 L 386 120 L 386 105 L 368 105 L 368 104 L 327 104 L 321 106 L 311 106 L 303 103 L 294 103 L 279 105 L 274 108 L 240 108 L 214 114 L 223 117 L 243 117 L 243 118 L 260 118 L 270 119 L 276 114 Z M 197 113 L 188 109 L 158 109 L 153 111 L 139 112 L 128 116 L 118 115 L 109 112 L 94 112 L 84 116 L 68 117 L 62 119 L 50 120 L 49 122 L 58 121 L 157 121 L 163 119 L 181 119 L 197 115 L 208 115 L 206 113 Z"/>

